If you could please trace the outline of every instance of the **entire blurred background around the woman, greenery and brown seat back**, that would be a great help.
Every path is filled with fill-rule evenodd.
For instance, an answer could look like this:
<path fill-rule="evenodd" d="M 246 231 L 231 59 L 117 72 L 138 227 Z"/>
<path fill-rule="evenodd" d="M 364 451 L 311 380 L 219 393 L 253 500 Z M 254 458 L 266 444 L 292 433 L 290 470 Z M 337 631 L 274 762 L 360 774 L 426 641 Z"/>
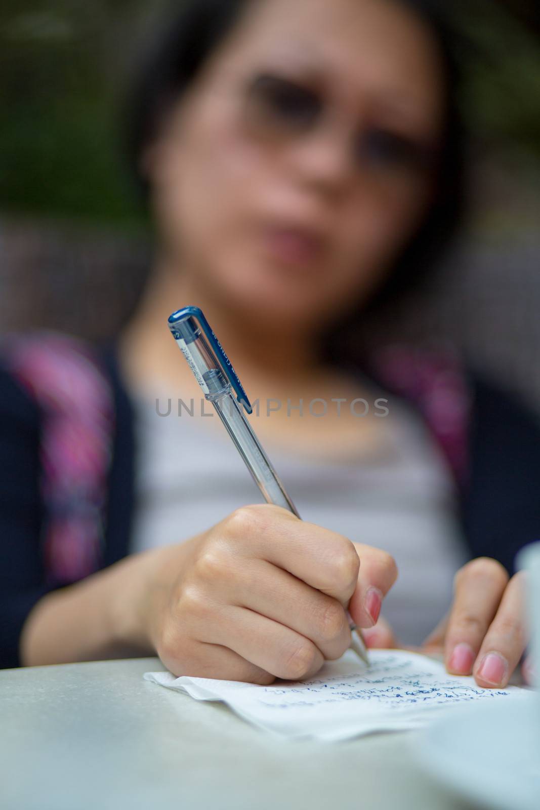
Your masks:
<path fill-rule="evenodd" d="M 122 102 L 142 42 L 179 2 L 2 0 L 0 335 L 110 339 L 136 307 L 152 238 Z M 432 289 L 370 337 L 450 342 L 540 413 L 540 3 L 440 5 L 464 77 L 466 227 Z"/>

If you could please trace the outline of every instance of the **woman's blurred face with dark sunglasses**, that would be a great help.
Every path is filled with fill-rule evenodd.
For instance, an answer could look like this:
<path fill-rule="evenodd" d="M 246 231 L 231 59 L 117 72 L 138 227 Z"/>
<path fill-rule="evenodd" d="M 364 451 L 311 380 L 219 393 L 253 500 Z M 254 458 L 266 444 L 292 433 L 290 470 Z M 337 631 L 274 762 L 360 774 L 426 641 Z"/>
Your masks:
<path fill-rule="evenodd" d="M 392 0 L 258 0 L 147 154 L 163 245 L 216 301 L 316 326 L 379 283 L 432 193 L 436 44 Z"/>

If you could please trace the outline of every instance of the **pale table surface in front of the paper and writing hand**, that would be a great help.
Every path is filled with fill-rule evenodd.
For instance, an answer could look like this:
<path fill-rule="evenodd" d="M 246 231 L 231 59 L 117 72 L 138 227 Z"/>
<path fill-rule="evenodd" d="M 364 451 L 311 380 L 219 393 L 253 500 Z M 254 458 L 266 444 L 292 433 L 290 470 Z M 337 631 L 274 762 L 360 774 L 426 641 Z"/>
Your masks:
<path fill-rule="evenodd" d="M 274 739 L 142 680 L 158 659 L 0 670 L 2 810 L 465 810 L 423 774 L 419 731 Z"/>

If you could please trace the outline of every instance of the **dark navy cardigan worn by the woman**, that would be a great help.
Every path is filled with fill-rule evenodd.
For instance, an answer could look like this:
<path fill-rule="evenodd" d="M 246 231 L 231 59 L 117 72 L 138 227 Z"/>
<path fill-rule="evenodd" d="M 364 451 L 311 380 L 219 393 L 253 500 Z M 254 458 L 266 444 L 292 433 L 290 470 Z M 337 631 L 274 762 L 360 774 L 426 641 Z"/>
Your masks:
<path fill-rule="evenodd" d="M 108 469 L 100 567 L 129 553 L 134 515 L 134 411 L 114 344 L 101 352 L 116 424 Z M 517 551 L 540 537 L 540 425 L 516 399 L 468 373 L 472 409 L 469 468 L 459 489 L 470 558 L 491 556 L 512 572 Z M 0 668 L 19 666 L 19 636 L 29 612 L 52 586 L 45 580 L 40 494 L 40 407 L 0 367 Z"/>

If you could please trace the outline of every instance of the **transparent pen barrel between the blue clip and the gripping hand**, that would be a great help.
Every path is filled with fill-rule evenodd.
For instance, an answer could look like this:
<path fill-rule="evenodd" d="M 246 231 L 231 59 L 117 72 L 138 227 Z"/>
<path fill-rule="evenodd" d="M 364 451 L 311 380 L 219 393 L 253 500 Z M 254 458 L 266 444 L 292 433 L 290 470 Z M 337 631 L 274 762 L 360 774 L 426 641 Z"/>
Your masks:
<path fill-rule="evenodd" d="M 283 509 L 288 509 L 298 517 L 295 505 L 287 496 L 283 489 L 283 484 L 270 464 L 268 457 L 257 439 L 251 426 L 240 409 L 240 405 L 231 394 L 224 394 L 222 397 L 210 400 L 218 411 L 219 418 L 227 428 L 227 433 L 234 441 L 238 451 L 257 487 L 261 490 L 265 500 Z"/>

